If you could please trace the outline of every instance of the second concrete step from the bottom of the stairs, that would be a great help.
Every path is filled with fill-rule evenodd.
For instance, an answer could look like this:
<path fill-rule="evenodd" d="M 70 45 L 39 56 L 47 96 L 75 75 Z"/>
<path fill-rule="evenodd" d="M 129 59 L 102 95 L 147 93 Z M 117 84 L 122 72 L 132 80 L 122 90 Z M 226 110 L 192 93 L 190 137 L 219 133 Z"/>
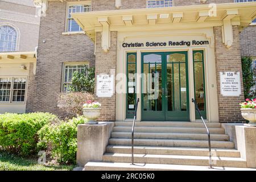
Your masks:
<path fill-rule="evenodd" d="M 219 167 L 246 167 L 246 160 L 242 158 L 213 157 L 213 166 Z M 103 162 L 129 163 L 131 154 L 105 153 Z M 188 156 L 188 155 L 151 155 L 134 154 L 135 163 L 146 164 L 178 164 L 191 166 L 208 166 L 208 156 Z"/>

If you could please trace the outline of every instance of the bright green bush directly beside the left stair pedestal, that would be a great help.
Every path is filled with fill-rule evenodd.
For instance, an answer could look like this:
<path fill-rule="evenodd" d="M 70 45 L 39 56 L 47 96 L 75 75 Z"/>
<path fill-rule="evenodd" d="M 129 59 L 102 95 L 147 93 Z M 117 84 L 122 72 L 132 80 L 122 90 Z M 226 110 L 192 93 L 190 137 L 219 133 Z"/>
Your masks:
<path fill-rule="evenodd" d="M 39 148 L 51 150 L 51 156 L 59 163 L 76 163 L 77 125 L 85 118 L 69 119 L 67 122 L 49 123 L 39 132 Z"/>

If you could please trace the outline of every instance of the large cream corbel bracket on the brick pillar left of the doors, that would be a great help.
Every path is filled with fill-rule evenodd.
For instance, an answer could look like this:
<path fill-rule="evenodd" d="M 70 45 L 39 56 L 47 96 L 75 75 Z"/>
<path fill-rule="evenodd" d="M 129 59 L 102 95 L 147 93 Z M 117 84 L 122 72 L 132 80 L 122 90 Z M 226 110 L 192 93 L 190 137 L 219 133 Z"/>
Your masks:
<path fill-rule="evenodd" d="M 109 19 L 108 19 L 108 17 L 100 17 L 100 18 L 98 18 L 98 22 L 102 26 L 101 48 L 104 50 L 104 52 L 108 52 L 108 50 L 110 48 Z"/>

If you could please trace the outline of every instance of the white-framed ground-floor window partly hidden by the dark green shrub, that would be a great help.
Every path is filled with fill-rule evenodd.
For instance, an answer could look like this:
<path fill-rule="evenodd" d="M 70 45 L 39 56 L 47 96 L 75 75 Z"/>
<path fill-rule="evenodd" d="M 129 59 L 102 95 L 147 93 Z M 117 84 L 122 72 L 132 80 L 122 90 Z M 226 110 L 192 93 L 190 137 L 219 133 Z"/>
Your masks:
<path fill-rule="evenodd" d="M 73 78 L 74 72 L 87 73 L 89 68 L 88 63 L 79 64 L 64 64 L 64 76 L 63 76 L 63 92 L 70 91 L 70 85 Z"/>

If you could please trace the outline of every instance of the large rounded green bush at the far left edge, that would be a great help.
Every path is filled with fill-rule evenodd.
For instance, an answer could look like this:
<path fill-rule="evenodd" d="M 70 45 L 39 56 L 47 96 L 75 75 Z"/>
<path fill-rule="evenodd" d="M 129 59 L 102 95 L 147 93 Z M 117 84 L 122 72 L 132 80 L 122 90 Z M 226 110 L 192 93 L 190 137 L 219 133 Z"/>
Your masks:
<path fill-rule="evenodd" d="M 33 154 L 38 131 L 56 120 L 56 115 L 49 113 L 0 114 L 0 148 L 23 156 Z"/>

